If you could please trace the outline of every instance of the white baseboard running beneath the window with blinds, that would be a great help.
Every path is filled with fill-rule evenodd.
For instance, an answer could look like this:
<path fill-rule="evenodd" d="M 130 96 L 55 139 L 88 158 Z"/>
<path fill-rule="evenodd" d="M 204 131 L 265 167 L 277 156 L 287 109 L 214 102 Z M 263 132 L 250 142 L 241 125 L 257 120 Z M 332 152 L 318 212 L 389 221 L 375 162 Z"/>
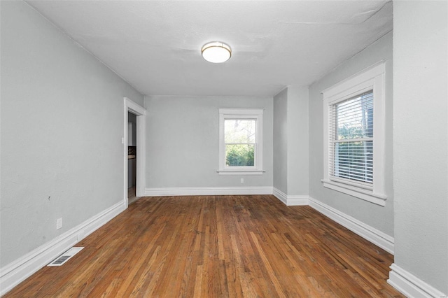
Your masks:
<path fill-rule="evenodd" d="M 366 225 L 364 222 L 356 220 L 356 218 L 352 218 L 350 215 L 346 215 L 312 197 L 309 197 L 309 206 L 393 255 L 394 239 L 388 234 L 384 234 L 378 229 L 370 227 L 370 225 Z"/>

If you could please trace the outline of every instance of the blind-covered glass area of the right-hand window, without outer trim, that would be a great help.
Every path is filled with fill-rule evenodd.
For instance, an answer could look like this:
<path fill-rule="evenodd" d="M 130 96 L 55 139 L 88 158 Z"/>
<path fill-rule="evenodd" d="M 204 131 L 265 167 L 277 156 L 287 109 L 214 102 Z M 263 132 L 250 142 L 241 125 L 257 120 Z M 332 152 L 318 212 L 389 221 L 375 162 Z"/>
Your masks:
<path fill-rule="evenodd" d="M 373 90 L 329 106 L 329 176 L 373 183 Z"/>

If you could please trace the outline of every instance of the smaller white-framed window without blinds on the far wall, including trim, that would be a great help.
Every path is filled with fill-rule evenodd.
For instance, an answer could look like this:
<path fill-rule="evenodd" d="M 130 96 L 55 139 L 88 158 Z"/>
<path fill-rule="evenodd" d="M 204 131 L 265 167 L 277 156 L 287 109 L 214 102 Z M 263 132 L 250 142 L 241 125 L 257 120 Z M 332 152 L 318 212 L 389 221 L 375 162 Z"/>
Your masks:
<path fill-rule="evenodd" d="M 218 173 L 262 174 L 262 115 L 258 108 L 219 109 Z"/>

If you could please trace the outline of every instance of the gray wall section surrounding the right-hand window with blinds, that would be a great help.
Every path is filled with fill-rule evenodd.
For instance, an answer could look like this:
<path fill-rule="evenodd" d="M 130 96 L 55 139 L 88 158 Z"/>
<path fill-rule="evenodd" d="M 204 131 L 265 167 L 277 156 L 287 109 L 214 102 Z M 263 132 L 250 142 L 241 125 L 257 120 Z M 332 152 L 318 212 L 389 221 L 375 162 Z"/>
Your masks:
<path fill-rule="evenodd" d="M 342 194 L 322 186 L 323 178 L 323 100 L 321 92 L 355 73 L 386 60 L 386 206 Z M 343 213 L 393 236 L 393 146 L 392 146 L 392 33 L 351 57 L 337 69 L 309 87 L 309 195 Z"/>

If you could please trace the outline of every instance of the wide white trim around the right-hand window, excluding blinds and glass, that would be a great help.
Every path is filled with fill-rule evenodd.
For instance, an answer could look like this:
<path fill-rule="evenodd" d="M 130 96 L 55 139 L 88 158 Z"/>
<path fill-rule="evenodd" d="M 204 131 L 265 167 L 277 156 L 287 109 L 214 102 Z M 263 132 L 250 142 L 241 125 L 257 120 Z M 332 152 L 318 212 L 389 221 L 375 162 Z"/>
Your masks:
<path fill-rule="evenodd" d="M 367 90 L 373 90 L 373 185 L 372 189 L 356 183 L 330 178 L 328 173 L 329 107 Z M 384 61 L 356 73 L 323 92 L 323 179 L 324 187 L 384 206 Z"/>

